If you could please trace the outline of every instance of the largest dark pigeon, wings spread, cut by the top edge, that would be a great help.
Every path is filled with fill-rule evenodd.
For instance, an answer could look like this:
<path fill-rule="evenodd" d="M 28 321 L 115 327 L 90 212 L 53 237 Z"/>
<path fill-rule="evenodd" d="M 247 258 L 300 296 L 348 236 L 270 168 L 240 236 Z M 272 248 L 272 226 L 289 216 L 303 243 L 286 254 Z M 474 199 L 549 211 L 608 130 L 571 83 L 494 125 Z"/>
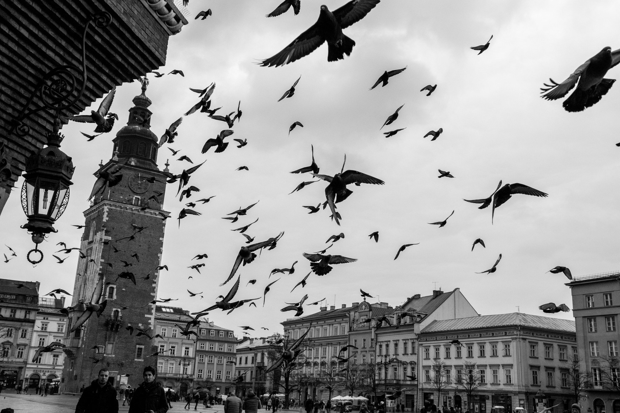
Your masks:
<path fill-rule="evenodd" d="M 333 62 L 349 56 L 355 41 L 342 33 L 343 28 L 363 19 L 380 0 L 351 0 L 333 12 L 322 5 L 319 19 L 288 46 L 271 58 L 260 62 L 260 66 L 283 66 L 303 58 L 327 42 L 327 61 Z"/>

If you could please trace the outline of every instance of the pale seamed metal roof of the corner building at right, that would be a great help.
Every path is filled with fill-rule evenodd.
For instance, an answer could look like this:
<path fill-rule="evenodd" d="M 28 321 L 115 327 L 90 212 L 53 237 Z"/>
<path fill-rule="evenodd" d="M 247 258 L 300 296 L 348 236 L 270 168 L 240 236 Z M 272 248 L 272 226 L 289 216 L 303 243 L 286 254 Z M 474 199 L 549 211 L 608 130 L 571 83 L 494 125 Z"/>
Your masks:
<path fill-rule="evenodd" d="M 524 326 L 530 328 L 542 328 L 556 331 L 575 333 L 575 321 L 535 316 L 524 313 L 496 314 L 489 316 L 477 316 L 456 318 L 455 320 L 435 320 L 428 324 L 420 333 L 435 333 L 439 331 L 454 331 L 475 328 L 490 328 L 501 326 Z"/>

